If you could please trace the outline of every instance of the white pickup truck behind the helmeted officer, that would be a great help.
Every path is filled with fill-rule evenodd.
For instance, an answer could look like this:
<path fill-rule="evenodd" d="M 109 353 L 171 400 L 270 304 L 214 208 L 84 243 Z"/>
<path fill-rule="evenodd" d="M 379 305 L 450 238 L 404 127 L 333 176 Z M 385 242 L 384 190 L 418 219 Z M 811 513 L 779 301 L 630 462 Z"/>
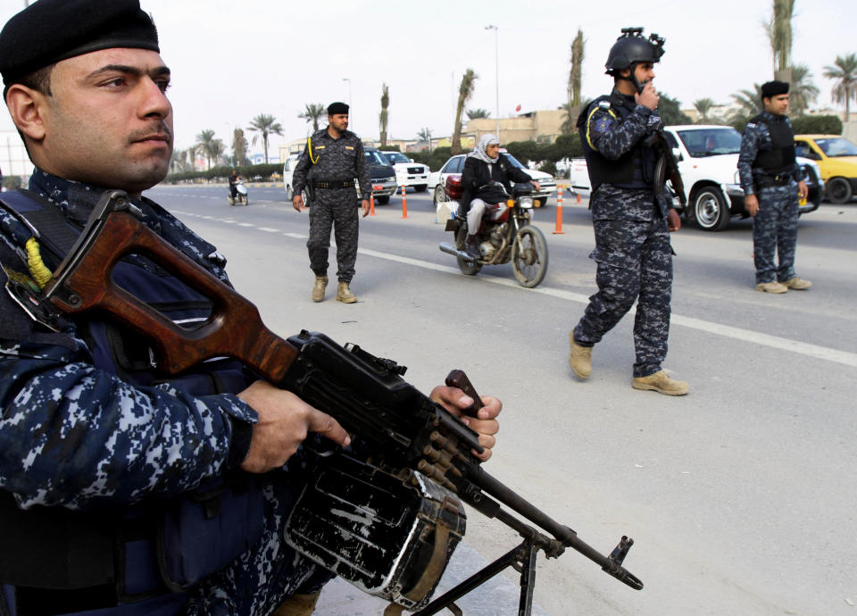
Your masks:
<path fill-rule="evenodd" d="M 678 171 L 685 184 L 688 221 L 701 229 L 726 229 L 732 216 L 746 217 L 744 190 L 738 181 L 738 154 L 741 134 L 730 126 L 688 124 L 668 126 L 663 133 L 678 160 Z M 824 196 L 819 166 L 808 158 L 797 158 L 806 174 L 810 196 L 800 212 L 819 208 Z M 570 165 L 570 184 L 575 190 L 589 190 L 587 161 L 576 158 Z"/>

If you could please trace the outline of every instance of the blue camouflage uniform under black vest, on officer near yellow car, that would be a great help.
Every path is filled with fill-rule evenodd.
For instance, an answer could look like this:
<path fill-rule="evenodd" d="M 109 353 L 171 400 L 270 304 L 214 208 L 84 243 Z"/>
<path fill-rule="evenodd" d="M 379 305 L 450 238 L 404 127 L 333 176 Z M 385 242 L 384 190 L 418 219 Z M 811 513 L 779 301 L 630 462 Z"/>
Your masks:
<path fill-rule="evenodd" d="M 761 121 L 760 121 L 761 120 Z M 766 123 L 767 122 L 767 123 Z M 741 154 L 738 156 L 738 174 L 745 195 L 755 195 L 759 212 L 753 217 L 753 262 L 756 266 L 756 284 L 784 282 L 795 278 L 795 250 L 797 249 L 797 219 L 799 194 L 797 182 L 803 180 L 803 171 L 793 162 L 777 183 L 767 181 L 764 171 L 753 162 L 760 152 L 771 149 L 768 123 L 785 123 L 791 130 L 791 121 L 785 115 L 761 112 L 748 122 L 741 135 Z M 776 256 L 779 256 L 779 265 Z"/>

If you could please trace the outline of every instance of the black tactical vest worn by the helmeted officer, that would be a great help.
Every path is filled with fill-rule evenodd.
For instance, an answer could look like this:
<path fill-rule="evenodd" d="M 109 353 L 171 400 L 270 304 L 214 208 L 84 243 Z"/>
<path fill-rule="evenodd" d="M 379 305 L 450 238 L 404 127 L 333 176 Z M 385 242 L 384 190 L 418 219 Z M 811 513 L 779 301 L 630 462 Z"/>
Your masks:
<path fill-rule="evenodd" d="M 637 144 L 628 152 L 613 161 L 601 154 L 592 144 L 589 123 L 593 114 L 599 109 L 608 112 L 617 123 L 627 120 L 633 111 L 628 109 L 627 105 L 620 104 L 614 96 L 605 95 L 596 98 L 587 111 L 578 116 L 577 127 L 580 143 L 583 145 L 583 155 L 587 159 L 592 192 L 604 183 L 620 188 L 653 188 L 657 154 L 653 148 L 644 146 L 642 139 L 637 141 Z"/>

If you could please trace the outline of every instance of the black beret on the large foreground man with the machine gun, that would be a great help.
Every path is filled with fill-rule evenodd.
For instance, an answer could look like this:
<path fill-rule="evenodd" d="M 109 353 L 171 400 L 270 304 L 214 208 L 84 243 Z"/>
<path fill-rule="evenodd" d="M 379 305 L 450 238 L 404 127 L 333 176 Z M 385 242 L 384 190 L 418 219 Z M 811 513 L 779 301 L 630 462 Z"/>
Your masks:
<path fill-rule="evenodd" d="M 113 47 L 161 52 L 139 0 L 38 0 L 0 32 L 0 73 L 8 86 L 54 62 Z"/>

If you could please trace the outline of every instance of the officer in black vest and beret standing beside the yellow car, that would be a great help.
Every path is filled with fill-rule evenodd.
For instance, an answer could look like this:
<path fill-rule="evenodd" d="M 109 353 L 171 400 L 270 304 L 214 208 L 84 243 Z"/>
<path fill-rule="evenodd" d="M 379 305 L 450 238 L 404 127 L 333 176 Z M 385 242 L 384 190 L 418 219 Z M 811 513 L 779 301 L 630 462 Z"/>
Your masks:
<path fill-rule="evenodd" d="M 769 81 L 762 85 L 761 104 L 763 111 L 744 128 L 738 156 L 744 205 L 753 216 L 756 290 L 803 291 L 812 283 L 795 273 L 797 212 L 798 196 L 805 199 L 809 189 L 795 161 L 795 132 L 786 117 L 788 84 Z M 779 267 L 775 254 L 779 254 Z"/>

